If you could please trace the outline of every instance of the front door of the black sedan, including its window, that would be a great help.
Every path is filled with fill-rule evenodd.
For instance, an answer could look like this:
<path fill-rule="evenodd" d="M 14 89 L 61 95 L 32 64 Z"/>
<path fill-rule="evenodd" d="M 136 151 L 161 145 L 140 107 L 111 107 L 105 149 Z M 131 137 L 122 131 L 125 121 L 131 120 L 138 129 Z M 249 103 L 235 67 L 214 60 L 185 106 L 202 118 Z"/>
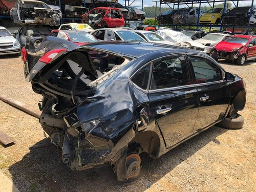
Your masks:
<path fill-rule="evenodd" d="M 189 55 L 191 77 L 198 91 L 199 113 L 194 132 L 221 120 L 230 101 L 230 85 L 224 72 L 211 59 Z"/>

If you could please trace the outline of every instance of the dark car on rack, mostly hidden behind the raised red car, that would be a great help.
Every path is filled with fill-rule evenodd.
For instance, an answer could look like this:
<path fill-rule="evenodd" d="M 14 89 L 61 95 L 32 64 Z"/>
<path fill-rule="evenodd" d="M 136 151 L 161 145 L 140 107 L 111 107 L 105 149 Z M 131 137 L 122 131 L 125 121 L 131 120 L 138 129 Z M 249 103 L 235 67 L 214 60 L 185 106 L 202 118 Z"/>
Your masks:
<path fill-rule="evenodd" d="M 91 4 L 90 10 L 97 7 L 111 7 L 111 8 L 118 8 L 123 14 L 123 17 L 126 19 L 129 10 L 125 9 L 121 4 L 118 2 L 108 2 L 108 1 L 96 1 L 95 3 Z"/>

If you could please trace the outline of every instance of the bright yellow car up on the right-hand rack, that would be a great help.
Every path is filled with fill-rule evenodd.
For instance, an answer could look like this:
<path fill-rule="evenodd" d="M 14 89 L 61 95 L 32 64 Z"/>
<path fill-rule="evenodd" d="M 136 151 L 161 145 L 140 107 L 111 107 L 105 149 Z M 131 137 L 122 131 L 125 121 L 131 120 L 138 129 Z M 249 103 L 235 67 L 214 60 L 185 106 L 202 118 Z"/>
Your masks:
<path fill-rule="evenodd" d="M 218 25 L 221 22 L 223 8 L 212 8 L 206 13 L 202 14 L 199 19 L 200 24 L 216 24 Z M 228 13 L 229 9 L 225 9 L 225 13 Z"/>

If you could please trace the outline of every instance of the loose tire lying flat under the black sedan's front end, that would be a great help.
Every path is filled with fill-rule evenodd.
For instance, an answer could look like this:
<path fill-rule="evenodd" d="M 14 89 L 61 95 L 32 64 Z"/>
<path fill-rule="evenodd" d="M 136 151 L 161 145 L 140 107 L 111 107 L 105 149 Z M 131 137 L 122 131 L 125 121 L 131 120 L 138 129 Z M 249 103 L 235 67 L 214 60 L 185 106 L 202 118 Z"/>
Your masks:
<path fill-rule="evenodd" d="M 237 130 L 241 129 L 244 124 L 244 117 L 242 115 L 237 114 L 235 117 L 227 117 L 223 119 L 221 122 L 217 124 L 217 126 L 220 126 L 225 129 L 230 129 L 230 130 Z"/>

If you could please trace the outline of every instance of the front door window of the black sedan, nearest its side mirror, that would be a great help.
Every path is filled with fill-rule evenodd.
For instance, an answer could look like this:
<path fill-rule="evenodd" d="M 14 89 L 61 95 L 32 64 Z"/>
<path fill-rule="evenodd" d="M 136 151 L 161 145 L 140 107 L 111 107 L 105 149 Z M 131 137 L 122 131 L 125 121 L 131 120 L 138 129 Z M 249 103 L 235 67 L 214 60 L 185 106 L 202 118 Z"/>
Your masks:
<path fill-rule="evenodd" d="M 221 80 L 221 70 L 211 60 L 190 56 L 190 61 L 195 73 L 194 84 Z"/>

